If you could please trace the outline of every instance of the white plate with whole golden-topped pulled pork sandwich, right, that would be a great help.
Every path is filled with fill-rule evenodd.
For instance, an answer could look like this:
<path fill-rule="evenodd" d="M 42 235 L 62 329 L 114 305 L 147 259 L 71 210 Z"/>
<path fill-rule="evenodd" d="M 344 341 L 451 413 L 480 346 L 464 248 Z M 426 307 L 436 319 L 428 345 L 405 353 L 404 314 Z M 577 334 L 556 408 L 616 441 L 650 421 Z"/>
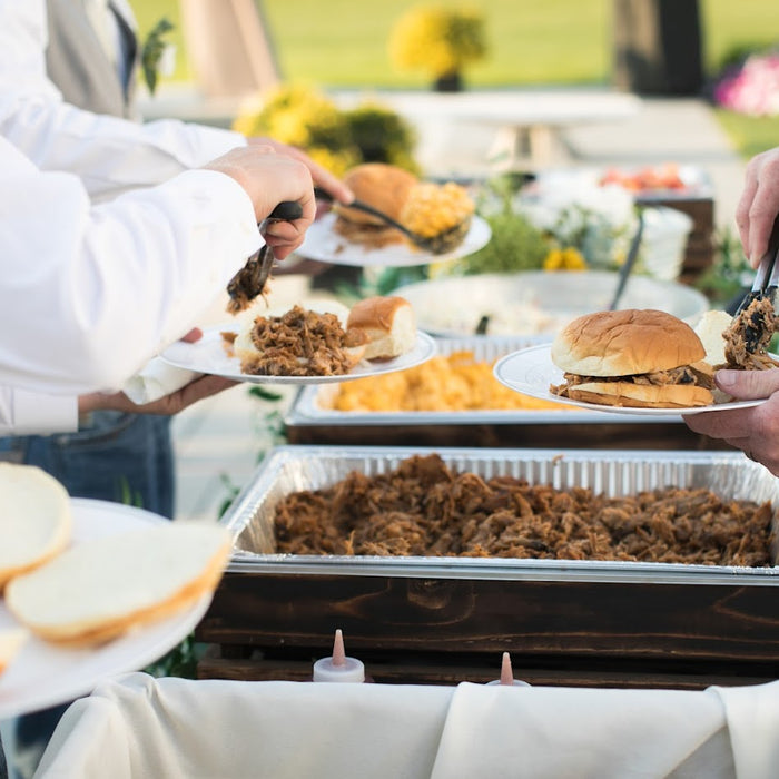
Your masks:
<path fill-rule="evenodd" d="M 723 313 L 712 314 L 693 329 L 653 309 L 596 312 L 574 319 L 552 343 L 506 355 L 495 377 L 533 397 L 618 414 L 699 414 L 765 403 L 732 401 L 716 388 L 714 367 L 728 361 Z M 772 367 L 771 361 L 760 356 L 748 367 Z"/>

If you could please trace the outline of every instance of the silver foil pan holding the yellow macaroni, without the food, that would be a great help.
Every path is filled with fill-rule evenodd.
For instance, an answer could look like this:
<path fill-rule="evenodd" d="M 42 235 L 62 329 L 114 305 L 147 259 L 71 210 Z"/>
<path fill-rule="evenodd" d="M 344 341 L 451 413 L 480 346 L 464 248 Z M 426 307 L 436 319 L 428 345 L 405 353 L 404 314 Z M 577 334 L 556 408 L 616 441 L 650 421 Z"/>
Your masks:
<path fill-rule="evenodd" d="M 448 356 L 455 352 L 471 352 L 476 362 L 493 362 L 512 352 L 548 343 L 551 336 L 464 336 L 436 338 L 438 354 Z M 470 411 L 403 411 L 353 412 L 333 408 L 338 386 L 309 385 L 295 397 L 285 422 L 292 426 L 426 426 L 426 425 L 566 425 L 566 424 L 659 424 L 679 422 L 681 415 L 632 416 L 601 411 L 563 407 L 559 410 L 470 410 Z"/>

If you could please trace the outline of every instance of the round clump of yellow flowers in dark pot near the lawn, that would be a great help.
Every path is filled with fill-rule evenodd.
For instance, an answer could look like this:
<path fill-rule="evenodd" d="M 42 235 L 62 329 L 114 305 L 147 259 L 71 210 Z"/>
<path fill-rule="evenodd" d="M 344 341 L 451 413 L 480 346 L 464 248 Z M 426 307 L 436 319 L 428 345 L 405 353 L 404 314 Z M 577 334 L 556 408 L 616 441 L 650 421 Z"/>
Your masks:
<path fill-rule="evenodd" d="M 392 29 L 388 50 L 401 70 L 424 70 L 435 79 L 458 75 L 486 53 L 484 19 L 475 9 L 414 7 Z"/>

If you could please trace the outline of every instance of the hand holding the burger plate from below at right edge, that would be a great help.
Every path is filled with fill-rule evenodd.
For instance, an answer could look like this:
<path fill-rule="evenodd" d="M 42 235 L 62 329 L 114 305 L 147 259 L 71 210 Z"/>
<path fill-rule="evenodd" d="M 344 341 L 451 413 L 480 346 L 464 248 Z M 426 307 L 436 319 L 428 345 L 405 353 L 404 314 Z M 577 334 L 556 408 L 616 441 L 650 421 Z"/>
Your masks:
<path fill-rule="evenodd" d="M 720 389 L 737 401 L 768 400 L 751 408 L 689 414 L 683 417 L 687 426 L 740 448 L 779 476 L 779 368 L 718 371 L 714 378 Z"/>

